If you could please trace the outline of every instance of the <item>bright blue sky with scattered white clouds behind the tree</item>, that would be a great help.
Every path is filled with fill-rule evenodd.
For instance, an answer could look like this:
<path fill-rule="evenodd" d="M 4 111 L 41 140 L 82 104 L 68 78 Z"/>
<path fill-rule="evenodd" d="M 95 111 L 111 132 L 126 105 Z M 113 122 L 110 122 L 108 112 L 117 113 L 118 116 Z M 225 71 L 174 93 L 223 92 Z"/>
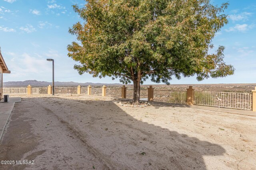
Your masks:
<path fill-rule="evenodd" d="M 212 0 L 220 5 L 224 0 Z M 79 75 L 76 64 L 67 57 L 66 47 L 76 37 L 68 33 L 81 21 L 72 5 L 82 6 L 84 0 L 0 0 L 0 46 L 11 74 L 4 74 L 7 81 L 52 81 L 54 59 L 55 81 L 118 83 L 111 78 L 93 78 Z M 226 78 L 196 81 L 195 77 L 173 78 L 171 84 L 256 83 L 256 1 L 230 0 L 225 11 L 229 23 L 217 33 L 215 47 L 224 45 L 224 61 L 232 64 L 235 74 Z M 144 84 L 154 84 L 150 81 Z"/>

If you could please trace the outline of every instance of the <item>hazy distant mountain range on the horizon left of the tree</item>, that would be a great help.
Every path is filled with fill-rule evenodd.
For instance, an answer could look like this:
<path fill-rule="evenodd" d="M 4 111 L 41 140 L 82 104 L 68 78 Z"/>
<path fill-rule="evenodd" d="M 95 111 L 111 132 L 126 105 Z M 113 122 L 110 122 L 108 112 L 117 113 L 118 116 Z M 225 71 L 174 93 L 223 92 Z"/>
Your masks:
<path fill-rule="evenodd" d="M 37 80 L 26 80 L 23 82 L 4 82 L 3 86 L 4 87 L 26 87 L 28 86 L 28 84 L 30 84 L 32 87 L 45 87 L 45 86 L 49 86 L 52 85 L 52 82 L 41 82 L 41 81 L 37 81 Z M 114 84 L 106 84 L 106 83 L 90 83 L 90 82 L 86 82 L 86 83 L 77 83 L 77 82 L 54 82 L 54 86 L 120 86 L 122 84 L 120 83 L 114 83 Z"/>

